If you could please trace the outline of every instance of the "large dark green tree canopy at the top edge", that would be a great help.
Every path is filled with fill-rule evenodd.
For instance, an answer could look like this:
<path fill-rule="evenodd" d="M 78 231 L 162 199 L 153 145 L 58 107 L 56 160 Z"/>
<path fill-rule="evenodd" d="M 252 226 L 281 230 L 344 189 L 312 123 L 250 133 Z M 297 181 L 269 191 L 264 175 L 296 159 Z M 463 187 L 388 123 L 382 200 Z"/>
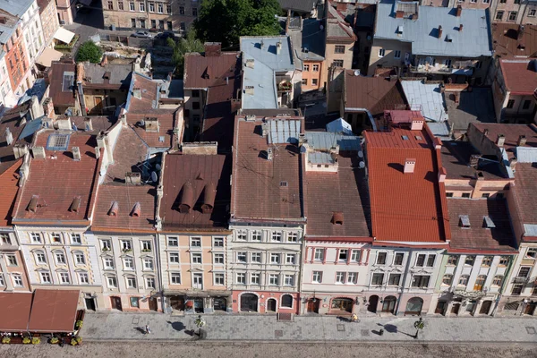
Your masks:
<path fill-rule="evenodd" d="M 277 0 L 206 0 L 194 28 L 203 41 L 238 47 L 241 36 L 275 36 L 281 31 Z"/>

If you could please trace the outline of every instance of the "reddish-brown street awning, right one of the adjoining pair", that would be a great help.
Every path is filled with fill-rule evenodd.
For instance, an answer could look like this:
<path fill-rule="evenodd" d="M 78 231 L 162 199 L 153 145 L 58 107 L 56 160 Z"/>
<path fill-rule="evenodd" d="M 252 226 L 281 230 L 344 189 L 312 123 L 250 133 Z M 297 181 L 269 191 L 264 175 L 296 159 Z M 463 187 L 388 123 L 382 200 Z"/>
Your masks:
<path fill-rule="evenodd" d="M 72 332 L 79 295 L 78 290 L 35 290 L 28 330 Z"/>

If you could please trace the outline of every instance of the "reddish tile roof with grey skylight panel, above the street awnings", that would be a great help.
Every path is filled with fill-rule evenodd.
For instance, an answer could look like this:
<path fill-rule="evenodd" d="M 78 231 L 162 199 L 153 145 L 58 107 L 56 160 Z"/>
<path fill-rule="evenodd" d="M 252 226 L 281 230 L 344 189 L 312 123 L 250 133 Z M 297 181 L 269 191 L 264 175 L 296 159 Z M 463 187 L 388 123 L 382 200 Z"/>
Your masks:
<path fill-rule="evenodd" d="M 47 140 L 55 130 L 38 133 L 34 146 L 44 147 L 46 158 L 30 159 L 30 170 L 15 205 L 13 223 L 30 224 L 59 221 L 85 225 L 95 198 L 98 167 L 96 137 L 83 132 L 72 132 L 66 151 L 47 150 Z M 72 147 L 79 147 L 81 160 L 72 159 Z M 35 212 L 28 208 L 37 197 Z M 73 200 L 80 198 L 80 209 L 70 211 Z"/>

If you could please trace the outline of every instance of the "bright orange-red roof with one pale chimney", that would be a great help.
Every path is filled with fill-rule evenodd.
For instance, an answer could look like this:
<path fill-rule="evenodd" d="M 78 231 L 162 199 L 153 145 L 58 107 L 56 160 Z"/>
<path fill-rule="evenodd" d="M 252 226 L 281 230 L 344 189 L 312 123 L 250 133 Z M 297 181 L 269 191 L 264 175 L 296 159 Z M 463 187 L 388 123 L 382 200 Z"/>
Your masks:
<path fill-rule="evenodd" d="M 439 183 L 439 149 L 427 130 L 365 132 L 364 137 L 376 240 L 444 243 L 449 238 L 445 188 Z M 408 158 L 415 166 L 405 174 Z"/>

